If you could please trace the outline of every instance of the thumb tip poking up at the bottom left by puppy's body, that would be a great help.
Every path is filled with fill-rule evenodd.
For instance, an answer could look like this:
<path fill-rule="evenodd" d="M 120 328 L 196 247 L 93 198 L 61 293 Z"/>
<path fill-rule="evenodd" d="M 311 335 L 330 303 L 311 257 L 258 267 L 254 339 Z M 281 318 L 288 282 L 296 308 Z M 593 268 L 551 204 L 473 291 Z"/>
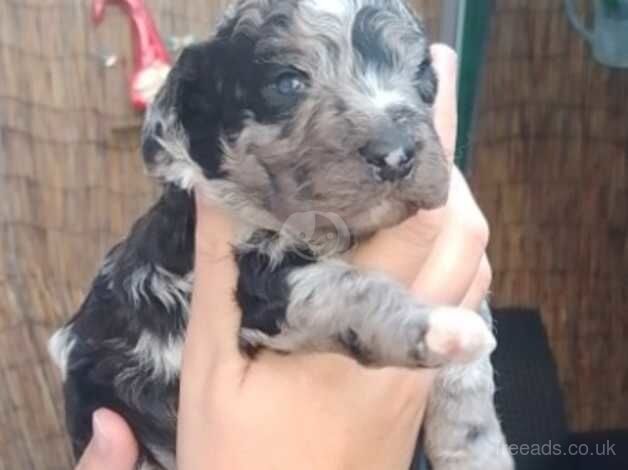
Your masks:
<path fill-rule="evenodd" d="M 77 470 L 134 470 L 138 449 L 128 425 L 115 413 L 98 410 L 92 417 L 94 435 Z"/>

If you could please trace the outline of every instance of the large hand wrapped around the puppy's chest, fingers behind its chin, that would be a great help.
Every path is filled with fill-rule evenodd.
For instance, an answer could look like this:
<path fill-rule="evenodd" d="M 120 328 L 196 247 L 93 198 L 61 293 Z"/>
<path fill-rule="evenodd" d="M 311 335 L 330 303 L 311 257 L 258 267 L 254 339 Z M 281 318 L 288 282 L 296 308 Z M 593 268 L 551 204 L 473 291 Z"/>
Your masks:
<path fill-rule="evenodd" d="M 451 150 L 456 57 L 442 46 L 433 52 L 442 78 L 437 126 Z M 199 200 L 179 468 L 408 468 L 433 374 L 366 369 L 331 354 L 243 357 L 236 340 L 241 316 L 231 294 L 237 280 L 233 230 L 226 214 Z M 482 261 L 487 236 L 462 175 L 454 172 L 445 208 L 378 235 L 355 261 L 388 272 L 422 299 L 474 307 L 490 278 Z M 204 286 L 211 286 L 211 296 Z"/>

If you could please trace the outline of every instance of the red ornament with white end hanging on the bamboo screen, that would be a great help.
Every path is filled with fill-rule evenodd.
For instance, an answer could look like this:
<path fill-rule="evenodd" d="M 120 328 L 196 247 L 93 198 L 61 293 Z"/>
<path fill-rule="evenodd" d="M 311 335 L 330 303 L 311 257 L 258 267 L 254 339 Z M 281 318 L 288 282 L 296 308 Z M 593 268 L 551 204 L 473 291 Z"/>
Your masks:
<path fill-rule="evenodd" d="M 108 3 L 117 3 L 131 19 L 134 65 L 129 93 L 133 106 L 143 111 L 168 76 L 170 54 L 144 0 L 92 0 L 92 19 L 95 24 L 102 22 Z"/>

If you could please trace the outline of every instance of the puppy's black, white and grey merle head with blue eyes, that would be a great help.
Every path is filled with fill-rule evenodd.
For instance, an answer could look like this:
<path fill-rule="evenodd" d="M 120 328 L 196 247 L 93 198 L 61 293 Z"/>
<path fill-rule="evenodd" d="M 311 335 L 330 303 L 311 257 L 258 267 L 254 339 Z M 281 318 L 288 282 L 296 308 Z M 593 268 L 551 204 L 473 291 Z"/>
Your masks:
<path fill-rule="evenodd" d="M 202 186 L 267 228 L 315 211 L 360 237 L 445 202 L 436 89 L 402 0 L 241 0 L 180 56 L 144 157 L 161 180 Z"/>

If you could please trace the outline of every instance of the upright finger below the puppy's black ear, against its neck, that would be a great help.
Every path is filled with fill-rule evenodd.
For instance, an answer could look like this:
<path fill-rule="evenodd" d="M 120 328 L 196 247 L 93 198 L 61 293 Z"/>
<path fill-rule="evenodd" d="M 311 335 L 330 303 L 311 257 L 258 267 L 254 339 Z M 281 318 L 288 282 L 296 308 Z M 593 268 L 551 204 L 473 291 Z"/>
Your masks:
<path fill-rule="evenodd" d="M 242 361 L 238 348 L 241 313 L 235 291 L 234 222 L 227 213 L 197 196 L 194 288 L 183 356 L 186 386 L 218 364 Z"/>

